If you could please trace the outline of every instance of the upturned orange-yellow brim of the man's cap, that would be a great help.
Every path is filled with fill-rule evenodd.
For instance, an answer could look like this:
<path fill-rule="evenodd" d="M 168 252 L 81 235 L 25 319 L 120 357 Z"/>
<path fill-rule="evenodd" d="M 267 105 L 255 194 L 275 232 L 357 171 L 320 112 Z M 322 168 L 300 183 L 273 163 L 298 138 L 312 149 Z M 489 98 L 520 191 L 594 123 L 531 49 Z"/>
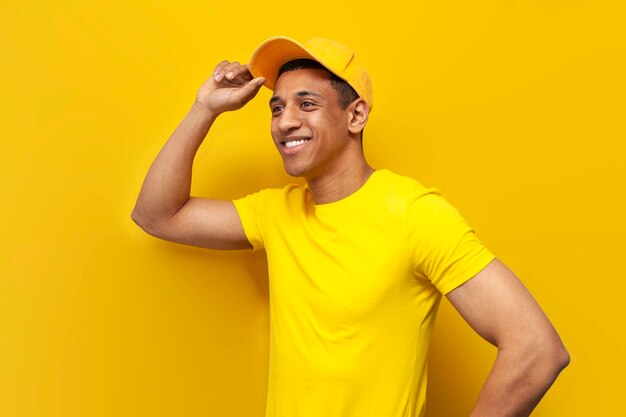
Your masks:
<path fill-rule="evenodd" d="M 252 76 L 265 77 L 265 86 L 274 90 L 280 67 L 286 62 L 300 58 L 316 60 L 300 42 L 276 36 L 259 45 L 252 53 L 248 67 Z"/>

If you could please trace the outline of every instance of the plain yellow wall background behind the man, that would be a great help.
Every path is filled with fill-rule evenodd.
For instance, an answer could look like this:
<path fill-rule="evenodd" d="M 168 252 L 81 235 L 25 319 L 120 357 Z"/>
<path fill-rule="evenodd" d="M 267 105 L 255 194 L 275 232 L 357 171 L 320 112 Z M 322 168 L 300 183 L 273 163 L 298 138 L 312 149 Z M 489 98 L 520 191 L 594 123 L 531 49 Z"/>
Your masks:
<path fill-rule="evenodd" d="M 370 163 L 440 188 L 554 322 L 572 364 L 534 415 L 623 411 L 623 2 L 2 1 L 0 14 L 1 416 L 263 416 L 263 254 L 158 241 L 130 212 L 214 65 L 277 34 L 358 51 Z M 194 194 L 291 181 L 268 98 L 218 120 Z M 428 416 L 468 415 L 494 356 L 442 303 Z"/>

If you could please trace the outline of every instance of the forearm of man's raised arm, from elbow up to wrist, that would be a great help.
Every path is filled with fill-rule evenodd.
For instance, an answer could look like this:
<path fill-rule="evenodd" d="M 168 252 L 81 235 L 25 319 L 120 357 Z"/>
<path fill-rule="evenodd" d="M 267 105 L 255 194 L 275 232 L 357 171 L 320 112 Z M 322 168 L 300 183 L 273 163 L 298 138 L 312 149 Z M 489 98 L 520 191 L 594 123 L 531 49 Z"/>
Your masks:
<path fill-rule="evenodd" d="M 215 118 L 194 102 L 150 166 L 133 220 L 144 224 L 167 220 L 188 201 L 193 160 Z"/>

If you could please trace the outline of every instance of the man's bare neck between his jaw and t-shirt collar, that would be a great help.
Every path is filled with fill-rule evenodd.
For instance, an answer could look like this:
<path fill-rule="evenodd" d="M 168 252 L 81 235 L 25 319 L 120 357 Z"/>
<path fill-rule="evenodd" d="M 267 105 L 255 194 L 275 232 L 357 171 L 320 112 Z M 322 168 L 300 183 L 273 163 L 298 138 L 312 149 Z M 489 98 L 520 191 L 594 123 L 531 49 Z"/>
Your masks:
<path fill-rule="evenodd" d="M 315 178 L 307 178 L 309 191 L 315 204 L 339 201 L 365 184 L 374 169 L 363 160 L 362 164 L 348 164 L 344 168 Z"/>

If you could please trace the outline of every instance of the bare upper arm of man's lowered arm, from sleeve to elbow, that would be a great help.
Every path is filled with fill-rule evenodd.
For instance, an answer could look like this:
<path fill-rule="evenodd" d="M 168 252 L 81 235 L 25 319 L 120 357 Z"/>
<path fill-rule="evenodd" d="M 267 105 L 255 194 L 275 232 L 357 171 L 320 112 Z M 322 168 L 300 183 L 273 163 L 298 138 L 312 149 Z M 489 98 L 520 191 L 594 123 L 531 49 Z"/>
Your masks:
<path fill-rule="evenodd" d="M 546 339 L 560 343 L 539 304 L 498 259 L 446 297 L 479 335 L 498 348 Z"/>

